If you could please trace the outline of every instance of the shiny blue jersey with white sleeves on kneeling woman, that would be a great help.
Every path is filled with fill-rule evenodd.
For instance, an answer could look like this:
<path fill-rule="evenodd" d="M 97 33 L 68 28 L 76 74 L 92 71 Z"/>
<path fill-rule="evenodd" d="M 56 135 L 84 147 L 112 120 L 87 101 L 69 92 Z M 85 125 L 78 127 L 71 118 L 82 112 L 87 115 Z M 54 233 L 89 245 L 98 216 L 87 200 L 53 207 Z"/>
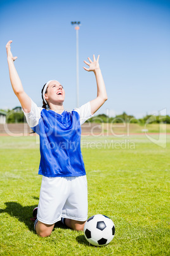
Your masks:
<path fill-rule="evenodd" d="M 29 126 L 39 134 L 39 174 L 47 177 L 86 174 L 81 153 L 81 124 L 92 117 L 89 103 L 60 115 L 38 108 L 32 101 L 30 113 L 24 114 Z"/>

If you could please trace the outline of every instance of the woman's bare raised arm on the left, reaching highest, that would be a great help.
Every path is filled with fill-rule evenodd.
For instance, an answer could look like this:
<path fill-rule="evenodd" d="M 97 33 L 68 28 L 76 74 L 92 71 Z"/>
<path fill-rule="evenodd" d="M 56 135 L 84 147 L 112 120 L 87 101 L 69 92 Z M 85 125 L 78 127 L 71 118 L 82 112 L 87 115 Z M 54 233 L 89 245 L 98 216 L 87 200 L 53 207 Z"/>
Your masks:
<path fill-rule="evenodd" d="M 31 108 L 31 100 L 30 100 L 30 97 L 24 92 L 22 87 L 22 82 L 15 69 L 14 61 L 17 59 L 17 57 L 13 57 L 11 53 L 11 43 L 12 41 L 8 41 L 8 43 L 6 44 L 6 53 L 7 53 L 8 67 L 10 71 L 11 85 L 15 95 L 18 97 L 22 105 L 23 110 L 26 113 L 29 113 Z"/>

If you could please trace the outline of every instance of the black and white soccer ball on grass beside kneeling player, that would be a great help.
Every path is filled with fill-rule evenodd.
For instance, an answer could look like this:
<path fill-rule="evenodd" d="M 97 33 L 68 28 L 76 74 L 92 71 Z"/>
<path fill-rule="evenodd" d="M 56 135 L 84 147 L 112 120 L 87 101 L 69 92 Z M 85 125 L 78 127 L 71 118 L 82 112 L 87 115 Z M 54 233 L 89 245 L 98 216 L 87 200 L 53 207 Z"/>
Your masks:
<path fill-rule="evenodd" d="M 114 234 L 114 222 L 105 215 L 93 215 L 84 225 L 84 236 L 91 245 L 108 245 L 114 238 Z"/>

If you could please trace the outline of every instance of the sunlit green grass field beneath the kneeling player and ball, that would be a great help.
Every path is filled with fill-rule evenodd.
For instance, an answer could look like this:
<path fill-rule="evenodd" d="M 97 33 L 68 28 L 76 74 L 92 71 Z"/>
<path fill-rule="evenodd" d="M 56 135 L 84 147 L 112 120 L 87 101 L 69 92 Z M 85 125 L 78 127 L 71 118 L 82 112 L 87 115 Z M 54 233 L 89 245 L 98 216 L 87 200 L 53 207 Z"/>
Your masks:
<path fill-rule="evenodd" d="M 36 141 L 0 137 L 0 255 L 170 255 L 170 136 L 164 148 L 145 135 L 82 137 L 88 216 L 102 213 L 115 224 L 114 239 L 103 247 L 60 224 L 48 238 L 34 232 L 30 218 L 41 186 Z"/>

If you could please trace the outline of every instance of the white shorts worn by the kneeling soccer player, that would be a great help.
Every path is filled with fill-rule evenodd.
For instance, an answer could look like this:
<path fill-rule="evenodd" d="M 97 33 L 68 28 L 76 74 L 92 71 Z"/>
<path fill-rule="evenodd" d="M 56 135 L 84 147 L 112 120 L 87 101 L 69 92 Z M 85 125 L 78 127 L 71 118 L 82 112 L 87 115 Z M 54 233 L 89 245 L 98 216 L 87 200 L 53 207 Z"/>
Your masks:
<path fill-rule="evenodd" d="M 55 224 L 63 218 L 86 221 L 88 218 L 88 185 L 86 175 L 74 177 L 42 176 L 37 219 Z"/>

